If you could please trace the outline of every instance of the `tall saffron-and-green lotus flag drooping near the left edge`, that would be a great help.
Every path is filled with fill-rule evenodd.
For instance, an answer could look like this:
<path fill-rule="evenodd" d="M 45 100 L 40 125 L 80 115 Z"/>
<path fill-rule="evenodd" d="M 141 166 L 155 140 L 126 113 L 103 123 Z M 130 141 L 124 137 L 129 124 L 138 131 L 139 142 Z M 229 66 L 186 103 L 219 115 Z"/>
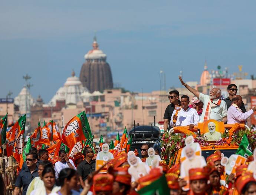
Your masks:
<path fill-rule="evenodd" d="M 22 159 L 25 125 L 26 114 L 21 116 L 13 125 L 12 129 L 10 130 L 12 131 L 12 135 L 10 136 L 6 146 L 7 156 L 13 156 L 17 162 L 20 162 L 20 159 Z"/>

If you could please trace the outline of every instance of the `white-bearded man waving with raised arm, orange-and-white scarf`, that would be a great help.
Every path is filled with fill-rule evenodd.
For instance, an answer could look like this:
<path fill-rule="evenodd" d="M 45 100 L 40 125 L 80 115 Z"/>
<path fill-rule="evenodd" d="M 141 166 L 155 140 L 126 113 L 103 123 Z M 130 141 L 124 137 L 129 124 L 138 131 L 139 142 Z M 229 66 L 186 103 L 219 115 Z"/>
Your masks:
<path fill-rule="evenodd" d="M 223 121 L 224 123 L 227 122 L 227 104 L 224 100 L 220 99 L 221 90 L 219 88 L 213 88 L 210 90 L 210 95 L 204 95 L 203 93 L 198 92 L 196 89 L 184 83 L 180 76 L 179 78 L 181 84 L 204 103 L 200 122 L 206 122 L 210 119 Z"/>

